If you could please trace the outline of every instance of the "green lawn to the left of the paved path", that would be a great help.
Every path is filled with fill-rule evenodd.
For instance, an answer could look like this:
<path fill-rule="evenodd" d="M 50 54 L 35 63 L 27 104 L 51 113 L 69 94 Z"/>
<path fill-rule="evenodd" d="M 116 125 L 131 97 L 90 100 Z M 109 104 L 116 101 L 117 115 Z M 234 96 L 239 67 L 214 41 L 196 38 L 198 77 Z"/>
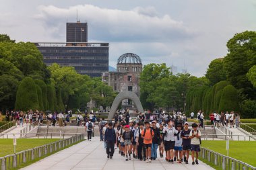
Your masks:
<path fill-rule="evenodd" d="M 55 142 L 59 139 L 44 139 L 44 138 L 18 138 L 16 153 L 24 151 L 35 146 L 42 146 L 47 143 Z M 13 154 L 13 139 L 0 139 L 0 157 Z"/>

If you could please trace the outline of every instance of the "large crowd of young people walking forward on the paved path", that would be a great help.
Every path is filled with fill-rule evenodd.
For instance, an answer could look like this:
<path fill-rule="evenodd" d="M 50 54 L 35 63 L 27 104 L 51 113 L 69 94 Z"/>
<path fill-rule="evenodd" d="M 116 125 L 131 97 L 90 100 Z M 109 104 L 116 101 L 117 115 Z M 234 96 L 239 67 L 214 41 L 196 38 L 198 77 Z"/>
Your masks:
<path fill-rule="evenodd" d="M 197 124 L 189 129 L 187 118 L 181 112 L 166 114 L 139 113 L 135 120 L 129 111 L 115 115 L 115 122 L 100 121 L 100 140 L 104 141 L 108 159 L 113 159 L 115 148 L 126 161 L 139 159 L 151 163 L 165 157 L 168 163 L 198 164 L 201 132 Z"/>

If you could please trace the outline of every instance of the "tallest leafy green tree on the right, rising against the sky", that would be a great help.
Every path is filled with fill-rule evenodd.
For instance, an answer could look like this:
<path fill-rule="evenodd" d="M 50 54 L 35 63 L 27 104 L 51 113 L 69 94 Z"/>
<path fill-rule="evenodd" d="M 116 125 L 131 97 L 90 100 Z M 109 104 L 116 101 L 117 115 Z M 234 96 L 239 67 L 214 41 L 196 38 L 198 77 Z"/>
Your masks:
<path fill-rule="evenodd" d="M 248 81 L 247 73 L 256 65 L 256 32 L 234 35 L 228 43 L 228 54 L 224 58 L 224 70 L 228 81 L 248 97 L 255 97 L 255 89 Z"/>

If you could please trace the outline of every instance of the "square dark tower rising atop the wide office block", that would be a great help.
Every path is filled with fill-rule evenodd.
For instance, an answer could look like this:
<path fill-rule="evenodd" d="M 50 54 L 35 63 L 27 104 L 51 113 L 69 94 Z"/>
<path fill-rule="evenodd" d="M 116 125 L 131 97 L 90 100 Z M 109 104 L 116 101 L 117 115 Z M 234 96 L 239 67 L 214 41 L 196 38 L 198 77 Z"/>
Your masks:
<path fill-rule="evenodd" d="M 66 42 L 88 42 L 88 27 L 84 22 L 67 22 Z"/>

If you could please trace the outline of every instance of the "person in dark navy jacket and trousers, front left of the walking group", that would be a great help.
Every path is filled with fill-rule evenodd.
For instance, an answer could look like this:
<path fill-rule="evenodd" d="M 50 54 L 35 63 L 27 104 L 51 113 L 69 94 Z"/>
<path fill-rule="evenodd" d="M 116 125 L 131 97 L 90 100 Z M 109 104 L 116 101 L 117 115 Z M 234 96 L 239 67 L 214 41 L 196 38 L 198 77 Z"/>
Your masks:
<path fill-rule="evenodd" d="M 108 158 L 112 159 L 115 152 L 115 142 L 116 142 L 116 133 L 115 129 L 113 129 L 112 122 L 108 123 L 108 128 L 106 129 L 104 135 L 104 142 L 106 142 L 106 154 Z"/>

